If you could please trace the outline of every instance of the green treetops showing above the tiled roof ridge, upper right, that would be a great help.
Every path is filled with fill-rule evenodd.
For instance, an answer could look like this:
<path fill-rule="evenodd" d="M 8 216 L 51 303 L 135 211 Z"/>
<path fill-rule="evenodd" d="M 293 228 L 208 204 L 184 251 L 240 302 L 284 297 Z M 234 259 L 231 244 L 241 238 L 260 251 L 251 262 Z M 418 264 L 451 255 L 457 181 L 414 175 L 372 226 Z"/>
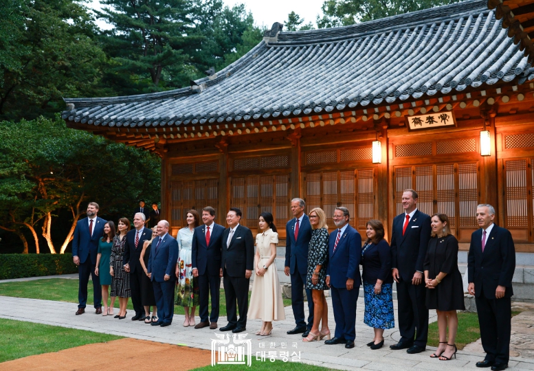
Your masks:
<path fill-rule="evenodd" d="M 326 0 L 321 7 L 324 15 L 318 17 L 317 24 L 319 28 L 353 25 L 457 1 L 459 0 Z"/>

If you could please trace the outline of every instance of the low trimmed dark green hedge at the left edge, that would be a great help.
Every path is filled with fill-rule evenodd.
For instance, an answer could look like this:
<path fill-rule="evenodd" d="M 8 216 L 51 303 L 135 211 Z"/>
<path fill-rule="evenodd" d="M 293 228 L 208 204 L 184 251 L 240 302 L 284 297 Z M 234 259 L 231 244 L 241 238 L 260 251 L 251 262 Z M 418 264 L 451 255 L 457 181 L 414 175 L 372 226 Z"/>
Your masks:
<path fill-rule="evenodd" d="M 78 273 L 72 254 L 0 254 L 0 280 Z"/>

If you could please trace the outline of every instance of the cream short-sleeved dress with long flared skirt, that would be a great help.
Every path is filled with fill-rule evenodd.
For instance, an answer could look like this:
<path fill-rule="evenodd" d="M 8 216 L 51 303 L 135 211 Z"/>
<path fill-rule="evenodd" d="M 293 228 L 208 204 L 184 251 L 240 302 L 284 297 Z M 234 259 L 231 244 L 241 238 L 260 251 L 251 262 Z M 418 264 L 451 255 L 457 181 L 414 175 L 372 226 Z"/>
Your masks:
<path fill-rule="evenodd" d="M 271 257 L 271 243 L 278 244 L 278 233 L 273 232 L 272 229 L 269 228 L 262 234 L 256 235 L 256 251 L 260 255 L 258 266 L 263 267 Z M 256 272 L 252 274 L 254 274 L 254 283 L 247 317 L 258 318 L 264 322 L 285 319 L 282 288 L 274 262 L 263 276 L 257 276 Z"/>

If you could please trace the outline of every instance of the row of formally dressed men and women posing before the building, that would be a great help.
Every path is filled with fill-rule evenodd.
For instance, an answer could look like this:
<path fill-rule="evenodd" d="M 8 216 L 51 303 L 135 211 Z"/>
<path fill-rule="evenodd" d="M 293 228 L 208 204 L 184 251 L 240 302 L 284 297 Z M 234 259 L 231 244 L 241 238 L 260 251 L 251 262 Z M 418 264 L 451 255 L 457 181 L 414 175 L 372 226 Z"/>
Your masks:
<path fill-rule="evenodd" d="M 366 240 L 362 244 L 359 232 L 349 223 L 351 216 L 346 207 L 335 208 L 332 218 L 336 229 L 329 234 L 324 210 L 317 207 L 307 215 L 304 200 L 291 201 L 294 217 L 286 225 L 285 274 L 291 277 L 296 327 L 287 331 L 289 335 L 302 334 L 305 342 L 326 337 L 325 344 L 354 348 L 356 306 L 363 285 L 364 323 L 375 331 L 367 345 L 377 350 L 383 346 L 384 330 L 394 327 L 392 293 L 396 282 L 401 339 L 390 348 L 406 349 L 410 354 L 423 352 L 428 311 L 435 309 L 440 344 L 430 357 L 447 361 L 456 355 L 456 311 L 465 309 L 458 240 L 451 232 L 447 215 L 424 214 L 417 209 L 417 201 L 415 190 L 403 192 L 404 212 L 393 220 L 390 244 L 378 220 L 366 223 Z M 115 317 L 123 319 L 128 297 L 132 297 L 133 320 L 168 326 L 176 304 L 185 308 L 183 326 L 216 329 L 223 278 L 228 323 L 221 331 L 241 333 L 246 330 L 247 318 L 254 318 L 262 320 L 256 335 L 266 336 L 271 334 L 273 321 L 285 319 L 278 275 L 271 267 L 278 233 L 269 212 L 258 218 L 256 252 L 252 231 L 239 223 L 242 214 L 236 207 L 227 212 L 227 228 L 214 223 L 213 207 L 204 207 L 201 215 L 189 210 L 188 226 L 179 230 L 176 239 L 168 235 L 167 221 L 159 221 L 153 230 L 145 228 L 146 216 L 142 212 L 133 218 L 135 229 L 129 231 L 128 219 L 121 218 L 115 234 L 115 225 L 96 216 L 97 212 L 98 205 L 89 203 L 87 218 L 78 221 L 74 233 L 74 262 L 80 267 L 77 315 L 85 312 L 87 283 L 92 274 L 97 314 L 102 314 L 102 296 L 103 315 L 113 314 L 113 300 L 118 296 L 120 313 Z M 476 219 L 480 229 L 471 236 L 468 278 L 469 293 L 476 296 L 482 346 L 487 353 L 476 366 L 504 370 L 509 359 L 515 248 L 510 232 L 495 225 L 494 217 L 491 205 L 478 205 Z M 307 319 L 304 290 L 308 298 Z M 333 337 L 324 290 L 331 291 Z M 197 306 L 198 324 L 194 319 Z"/>

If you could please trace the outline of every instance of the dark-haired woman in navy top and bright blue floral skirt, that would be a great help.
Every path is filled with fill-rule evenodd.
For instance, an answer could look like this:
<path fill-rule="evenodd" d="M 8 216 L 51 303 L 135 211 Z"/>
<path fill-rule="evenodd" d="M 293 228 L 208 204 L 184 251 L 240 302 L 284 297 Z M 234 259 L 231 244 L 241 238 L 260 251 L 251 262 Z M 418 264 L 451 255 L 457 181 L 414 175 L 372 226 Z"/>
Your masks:
<path fill-rule="evenodd" d="M 391 250 L 384 240 L 380 221 L 367 222 L 367 240 L 361 248 L 361 265 L 364 273 L 365 313 L 364 323 L 374 328 L 375 339 L 367 346 L 372 350 L 383 346 L 383 330 L 394 328 L 393 278 L 391 276 Z"/>

